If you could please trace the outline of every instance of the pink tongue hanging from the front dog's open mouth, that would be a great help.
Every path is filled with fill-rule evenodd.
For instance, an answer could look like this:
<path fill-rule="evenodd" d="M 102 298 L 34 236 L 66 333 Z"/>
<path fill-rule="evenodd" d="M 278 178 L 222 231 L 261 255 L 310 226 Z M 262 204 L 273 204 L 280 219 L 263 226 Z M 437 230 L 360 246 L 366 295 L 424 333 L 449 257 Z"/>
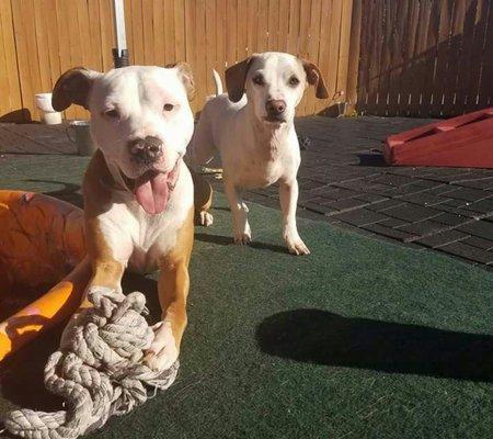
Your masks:
<path fill-rule="evenodd" d="M 135 198 L 147 213 L 158 214 L 164 211 L 168 192 L 168 177 L 164 173 L 142 176 L 135 181 Z"/>

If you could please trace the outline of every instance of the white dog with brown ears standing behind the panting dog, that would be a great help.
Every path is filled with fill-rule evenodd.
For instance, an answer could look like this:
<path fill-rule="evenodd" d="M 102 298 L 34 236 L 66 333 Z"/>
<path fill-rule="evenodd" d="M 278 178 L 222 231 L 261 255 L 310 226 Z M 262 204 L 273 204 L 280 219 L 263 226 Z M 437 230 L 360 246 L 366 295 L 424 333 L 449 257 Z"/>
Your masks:
<path fill-rule="evenodd" d="M 286 245 L 294 255 L 308 255 L 296 226 L 300 153 L 294 117 L 308 85 L 317 98 L 328 98 L 319 68 L 289 54 L 263 53 L 226 70 L 228 94 L 216 72 L 215 81 L 217 95 L 200 114 L 190 153 L 194 165 L 205 165 L 219 150 L 234 243 L 252 238 L 242 190 L 278 182 Z M 207 226 L 213 217 L 203 210 L 199 221 Z"/>

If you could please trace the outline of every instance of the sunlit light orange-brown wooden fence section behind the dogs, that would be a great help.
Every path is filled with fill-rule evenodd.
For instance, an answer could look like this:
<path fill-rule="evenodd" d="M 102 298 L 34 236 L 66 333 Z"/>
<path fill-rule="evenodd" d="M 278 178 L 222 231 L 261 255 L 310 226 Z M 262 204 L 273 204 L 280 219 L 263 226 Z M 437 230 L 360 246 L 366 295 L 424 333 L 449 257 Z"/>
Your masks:
<path fill-rule="evenodd" d="M 346 93 L 353 0 L 126 0 L 130 60 L 191 64 L 199 110 L 221 75 L 255 52 L 282 50 L 317 63 L 330 95 Z M 37 119 L 34 94 L 73 66 L 112 68 L 111 0 L 0 0 L 0 116 Z M 357 71 L 357 70 L 355 70 Z M 354 82 L 354 80 L 353 80 Z M 331 105 L 306 93 L 299 114 Z M 87 117 L 81 109 L 67 116 Z"/>

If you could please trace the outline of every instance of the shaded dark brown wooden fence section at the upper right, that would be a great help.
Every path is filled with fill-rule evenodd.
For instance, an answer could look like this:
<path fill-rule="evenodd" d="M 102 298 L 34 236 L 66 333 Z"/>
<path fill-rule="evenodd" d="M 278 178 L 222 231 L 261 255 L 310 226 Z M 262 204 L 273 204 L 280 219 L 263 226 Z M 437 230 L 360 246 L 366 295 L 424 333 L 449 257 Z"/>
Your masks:
<path fill-rule="evenodd" d="M 355 0 L 356 9 L 359 111 L 449 116 L 493 104 L 492 1 Z"/>

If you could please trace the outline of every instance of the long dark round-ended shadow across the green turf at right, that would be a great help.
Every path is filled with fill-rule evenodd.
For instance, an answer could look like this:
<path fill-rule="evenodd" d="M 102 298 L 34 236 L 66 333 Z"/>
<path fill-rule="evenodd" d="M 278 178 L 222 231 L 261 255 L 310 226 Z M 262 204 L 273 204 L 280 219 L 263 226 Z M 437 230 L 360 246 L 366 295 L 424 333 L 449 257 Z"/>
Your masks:
<path fill-rule="evenodd" d="M 294 309 L 264 319 L 260 349 L 296 361 L 470 381 L 493 381 L 493 336 Z"/>

